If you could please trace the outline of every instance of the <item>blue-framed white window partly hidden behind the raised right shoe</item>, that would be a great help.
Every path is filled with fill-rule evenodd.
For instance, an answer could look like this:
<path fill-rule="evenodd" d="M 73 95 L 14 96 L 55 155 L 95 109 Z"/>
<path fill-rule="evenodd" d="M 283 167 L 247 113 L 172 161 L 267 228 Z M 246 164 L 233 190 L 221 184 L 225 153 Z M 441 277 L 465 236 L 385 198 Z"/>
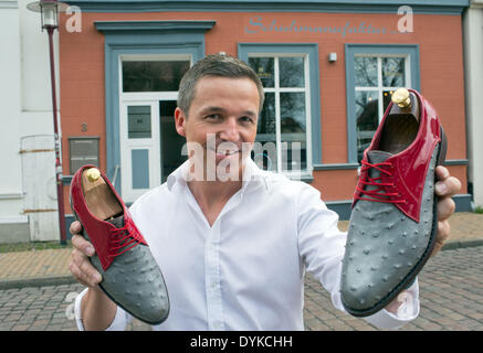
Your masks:
<path fill-rule="evenodd" d="M 419 89 L 417 46 L 346 46 L 349 162 L 359 162 L 399 87 Z"/>

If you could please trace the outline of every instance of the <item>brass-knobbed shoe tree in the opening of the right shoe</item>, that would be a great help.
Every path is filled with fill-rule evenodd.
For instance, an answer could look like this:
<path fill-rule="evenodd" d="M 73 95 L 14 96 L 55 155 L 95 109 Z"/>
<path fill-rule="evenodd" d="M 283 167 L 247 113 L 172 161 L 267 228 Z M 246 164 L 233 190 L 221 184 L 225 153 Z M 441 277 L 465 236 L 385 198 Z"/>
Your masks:
<path fill-rule="evenodd" d="M 406 88 L 392 94 L 392 108 L 386 117 L 379 150 L 397 154 L 414 141 L 419 130 L 418 98 Z"/>

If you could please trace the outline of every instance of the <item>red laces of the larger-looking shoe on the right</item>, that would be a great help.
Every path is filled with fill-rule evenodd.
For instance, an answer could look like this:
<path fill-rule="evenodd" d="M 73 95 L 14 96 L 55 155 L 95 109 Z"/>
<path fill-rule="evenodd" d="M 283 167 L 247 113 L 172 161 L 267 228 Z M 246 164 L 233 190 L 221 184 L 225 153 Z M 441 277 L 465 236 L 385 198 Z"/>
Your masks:
<path fill-rule="evenodd" d="M 365 194 L 368 197 L 363 197 L 356 194 L 355 199 L 357 200 L 366 200 L 366 201 L 374 201 L 374 202 L 386 202 L 386 203 L 405 203 L 406 200 L 401 199 L 401 195 L 393 192 L 388 193 L 385 190 L 385 186 L 393 186 L 393 183 L 384 183 L 382 178 L 370 178 L 369 176 L 369 170 L 371 168 L 377 169 L 380 173 L 385 173 L 388 176 L 392 176 L 392 173 L 384 168 L 392 167 L 392 163 L 390 162 L 380 162 L 380 163 L 369 163 L 365 160 L 363 160 L 363 168 L 360 170 L 361 173 L 367 171 L 367 181 L 361 180 L 361 184 L 364 186 L 371 185 L 371 186 L 378 186 L 374 190 L 364 190 L 364 188 L 359 188 L 359 185 L 356 186 L 357 191 L 360 192 L 360 194 Z M 366 188 L 367 189 L 367 188 Z"/>

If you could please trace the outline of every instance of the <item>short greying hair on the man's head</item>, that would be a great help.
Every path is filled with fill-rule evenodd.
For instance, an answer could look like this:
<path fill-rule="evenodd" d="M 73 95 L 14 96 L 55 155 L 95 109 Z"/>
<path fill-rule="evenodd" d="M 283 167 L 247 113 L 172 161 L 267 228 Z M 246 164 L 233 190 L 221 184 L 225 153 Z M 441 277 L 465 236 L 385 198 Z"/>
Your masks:
<path fill-rule="evenodd" d="M 196 85 L 198 81 L 207 76 L 249 78 L 253 81 L 259 89 L 260 111 L 262 110 L 265 93 L 263 92 L 262 82 L 253 68 L 237 57 L 225 54 L 212 54 L 191 66 L 179 83 L 178 107 L 187 117 L 191 101 L 195 98 Z"/>

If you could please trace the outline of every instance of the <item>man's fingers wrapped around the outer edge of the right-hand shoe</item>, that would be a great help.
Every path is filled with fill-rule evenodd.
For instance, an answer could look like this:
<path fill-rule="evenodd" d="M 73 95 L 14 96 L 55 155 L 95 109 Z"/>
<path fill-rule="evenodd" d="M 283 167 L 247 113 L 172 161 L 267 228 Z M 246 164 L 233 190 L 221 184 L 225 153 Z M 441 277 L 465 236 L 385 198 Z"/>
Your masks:
<path fill-rule="evenodd" d="M 448 218 L 454 213 L 454 201 L 451 199 L 461 190 L 461 182 L 450 175 L 447 168 L 439 165 L 435 169 L 439 181 L 435 183 L 438 201 L 438 237 L 431 256 L 434 256 L 444 245 L 450 236 L 450 223 Z"/>

